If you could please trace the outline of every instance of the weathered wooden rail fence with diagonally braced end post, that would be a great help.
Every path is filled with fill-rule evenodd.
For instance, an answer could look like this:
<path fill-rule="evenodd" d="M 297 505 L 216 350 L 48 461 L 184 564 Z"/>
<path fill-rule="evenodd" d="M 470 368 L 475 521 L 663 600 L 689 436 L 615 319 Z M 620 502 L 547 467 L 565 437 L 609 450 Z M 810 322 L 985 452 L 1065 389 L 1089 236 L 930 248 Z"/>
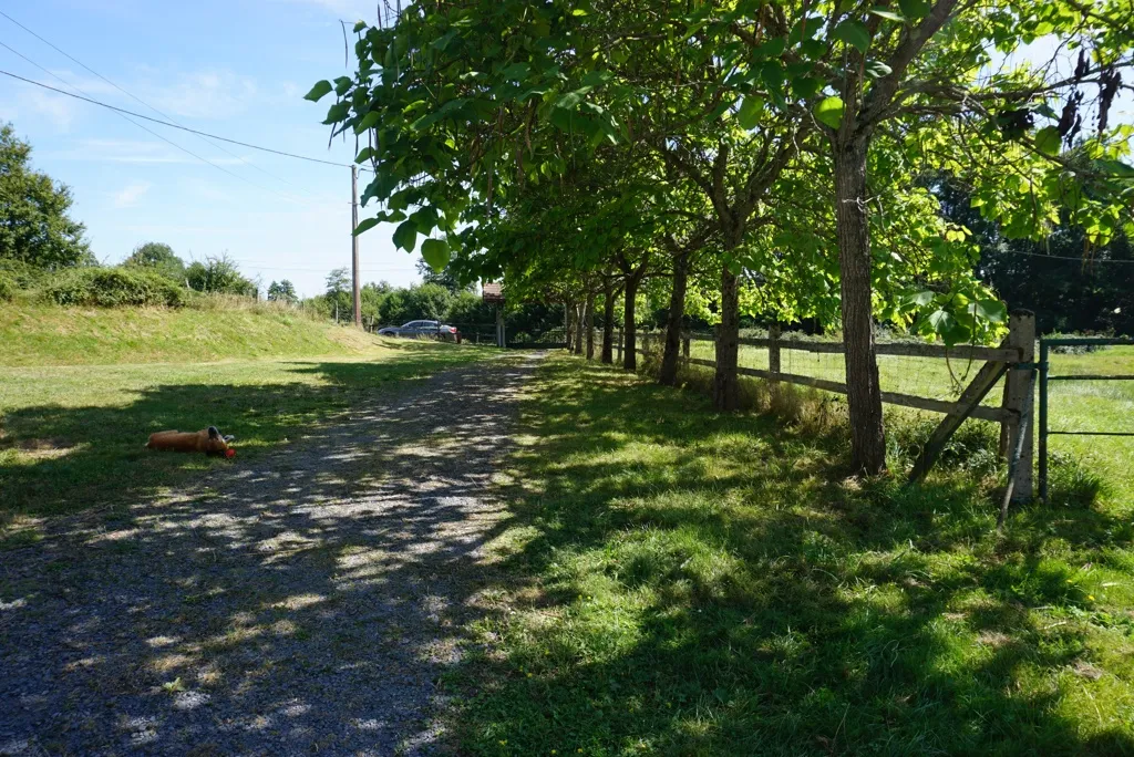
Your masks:
<path fill-rule="evenodd" d="M 716 360 L 691 357 L 691 342 L 708 341 L 714 342 L 713 337 L 685 334 L 682 339 L 682 359 L 685 365 L 699 365 L 708 368 L 717 366 Z M 781 356 L 786 350 L 799 350 L 804 352 L 843 354 L 846 346 L 843 342 L 802 341 L 780 339 L 777 330 L 770 330 L 769 337 L 763 339 L 741 339 L 742 346 L 758 347 L 768 350 L 768 369 L 750 368 L 741 366 L 737 373 L 744 376 L 754 376 L 773 382 L 801 384 L 813 386 L 828 392 L 839 394 L 847 393 L 847 385 L 843 382 L 805 376 L 795 373 L 780 371 Z M 641 346 L 635 350 L 641 355 L 654 354 L 661 339 L 651 332 L 641 334 Z M 601 343 L 601 334 L 596 345 Z M 612 343 L 617 355 L 617 362 L 621 363 L 623 357 L 623 332 L 617 331 Z M 983 365 L 976 372 L 975 377 L 965 386 L 955 400 L 942 400 L 930 397 L 917 397 L 900 392 L 882 392 L 882 401 L 889 405 L 916 408 L 941 412 L 945 418 L 934 429 L 925 446 L 922 449 L 911 473 L 911 482 L 920 480 L 930 471 L 937 462 L 946 444 L 954 433 L 967 418 L 980 418 L 992 423 L 999 423 L 1002 428 L 1000 449 L 1005 454 L 1010 456 L 1010 470 L 1013 480 L 1009 482 L 1008 491 L 1013 501 L 1024 501 L 1032 496 L 1032 467 L 1034 458 L 1034 441 L 1032 423 L 1031 394 L 1034 385 L 1034 345 L 1035 345 L 1035 316 L 1029 311 L 1015 311 L 1009 318 L 1008 338 L 999 347 L 976 347 L 955 346 L 945 347 L 941 345 L 920 343 L 879 343 L 875 345 L 878 355 L 894 355 L 919 358 L 954 359 L 981 362 Z M 598 351 L 598 348 L 596 350 Z M 1000 378 L 1007 376 L 1004 390 L 1004 400 L 999 407 L 982 405 L 988 394 L 1000 383 Z M 1022 423 L 1023 422 L 1023 423 Z M 1017 432 L 1023 429 L 1023 439 L 1017 439 Z"/>

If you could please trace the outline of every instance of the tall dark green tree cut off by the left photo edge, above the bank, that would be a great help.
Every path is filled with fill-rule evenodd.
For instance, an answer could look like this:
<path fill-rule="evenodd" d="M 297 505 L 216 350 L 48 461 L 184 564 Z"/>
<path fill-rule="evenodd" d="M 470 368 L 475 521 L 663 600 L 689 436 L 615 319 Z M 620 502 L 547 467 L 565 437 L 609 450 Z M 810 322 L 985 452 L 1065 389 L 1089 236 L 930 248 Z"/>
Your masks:
<path fill-rule="evenodd" d="M 0 258 L 56 271 L 94 263 L 83 235 L 68 215 L 70 189 L 31 168 L 32 147 L 0 124 Z"/>

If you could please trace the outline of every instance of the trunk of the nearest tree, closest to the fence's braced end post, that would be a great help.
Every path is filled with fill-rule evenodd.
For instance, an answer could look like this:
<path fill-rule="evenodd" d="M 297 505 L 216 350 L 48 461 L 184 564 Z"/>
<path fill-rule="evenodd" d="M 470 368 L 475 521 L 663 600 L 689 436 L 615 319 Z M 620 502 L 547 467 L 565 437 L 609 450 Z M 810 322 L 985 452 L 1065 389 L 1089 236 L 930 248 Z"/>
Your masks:
<path fill-rule="evenodd" d="M 835 218 L 843 291 L 847 407 L 854 468 L 866 475 L 886 470 L 882 391 L 874 351 L 871 308 L 870 226 L 866 211 L 866 144 L 835 148 Z"/>

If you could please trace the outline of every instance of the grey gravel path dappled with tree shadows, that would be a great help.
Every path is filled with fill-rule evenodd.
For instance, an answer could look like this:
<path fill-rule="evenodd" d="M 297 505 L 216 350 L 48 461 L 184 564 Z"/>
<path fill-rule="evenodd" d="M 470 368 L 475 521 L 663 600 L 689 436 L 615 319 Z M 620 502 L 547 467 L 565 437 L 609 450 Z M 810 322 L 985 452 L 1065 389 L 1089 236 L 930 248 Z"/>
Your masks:
<path fill-rule="evenodd" d="M 531 371 L 449 371 L 0 553 L 0 755 L 445 751 Z"/>

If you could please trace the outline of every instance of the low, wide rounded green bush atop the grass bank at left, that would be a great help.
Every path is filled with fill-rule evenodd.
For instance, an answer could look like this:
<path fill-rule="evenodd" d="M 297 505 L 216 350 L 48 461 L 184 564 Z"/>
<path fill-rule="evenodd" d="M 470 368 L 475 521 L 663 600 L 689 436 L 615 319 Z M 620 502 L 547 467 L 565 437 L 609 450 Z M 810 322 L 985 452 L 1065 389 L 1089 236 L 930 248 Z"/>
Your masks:
<path fill-rule="evenodd" d="M 48 284 L 43 294 L 59 305 L 180 307 L 185 304 L 185 291 L 169 279 L 149 271 L 120 267 L 66 271 Z"/>

